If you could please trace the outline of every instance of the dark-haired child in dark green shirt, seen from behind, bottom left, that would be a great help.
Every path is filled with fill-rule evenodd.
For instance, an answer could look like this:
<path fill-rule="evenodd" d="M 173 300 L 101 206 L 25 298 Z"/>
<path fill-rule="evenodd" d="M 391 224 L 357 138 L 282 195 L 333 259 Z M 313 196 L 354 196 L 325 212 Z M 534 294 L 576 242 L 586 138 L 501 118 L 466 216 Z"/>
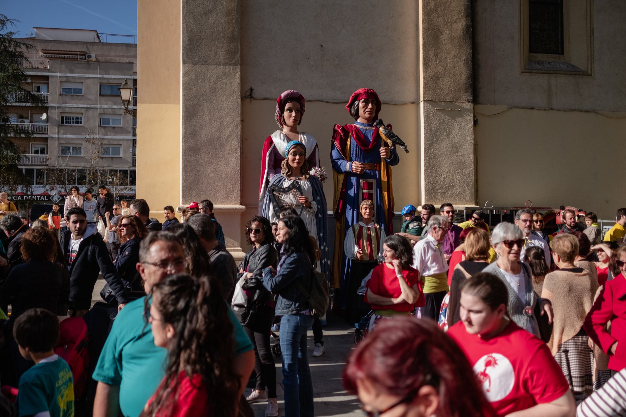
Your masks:
<path fill-rule="evenodd" d="M 31 308 L 15 320 L 13 336 L 23 358 L 35 363 L 19 378 L 19 416 L 73 417 L 72 371 L 54 354 L 59 341 L 58 318 L 46 309 Z"/>

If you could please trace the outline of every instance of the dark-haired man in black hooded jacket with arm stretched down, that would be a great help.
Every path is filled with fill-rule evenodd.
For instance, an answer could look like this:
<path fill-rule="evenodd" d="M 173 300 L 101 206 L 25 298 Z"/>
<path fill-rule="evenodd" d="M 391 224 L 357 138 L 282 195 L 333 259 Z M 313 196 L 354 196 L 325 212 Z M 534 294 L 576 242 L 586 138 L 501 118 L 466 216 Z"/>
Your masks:
<path fill-rule="evenodd" d="M 85 210 L 68 211 L 69 230 L 61 236 L 61 248 L 69 265 L 69 316 L 83 316 L 91 308 L 91 294 L 102 273 L 115 294 L 118 310 L 129 301 L 106 244 L 95 224 L 87 224 Z"/>

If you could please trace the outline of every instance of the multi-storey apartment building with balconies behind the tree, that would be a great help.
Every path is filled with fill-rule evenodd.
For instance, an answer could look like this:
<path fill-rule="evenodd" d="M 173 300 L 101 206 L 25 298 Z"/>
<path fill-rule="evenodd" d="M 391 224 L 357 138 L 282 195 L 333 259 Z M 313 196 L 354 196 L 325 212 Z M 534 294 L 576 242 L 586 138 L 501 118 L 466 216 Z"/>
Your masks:
<path fill-rule="evenodd" d="M 120 197 L 131 198 L 136 118 L 125 113 L 118 88 L 126 80 L 134 89 L 132 112 L 136 43 L 104 42 L 91 30 L 34 28 L 34 33 L 19 39 L 34 47 L 20 65 L 27 76 L 25 87 L 44 107 L 17 94 L 11 99 L 9 119 L 3 121 L 13 124 L 16 133 L 31 134 L 16 134 L 13 141 L 23 152 L 20 168 L 32 179 L 33 193 L 18 193 L 13 199 L 48 201 L 54 194 L 64 196 L 67 186 L 78 184 L 84 192 L 87 184 L 101 182 L 118 189 Z"/>

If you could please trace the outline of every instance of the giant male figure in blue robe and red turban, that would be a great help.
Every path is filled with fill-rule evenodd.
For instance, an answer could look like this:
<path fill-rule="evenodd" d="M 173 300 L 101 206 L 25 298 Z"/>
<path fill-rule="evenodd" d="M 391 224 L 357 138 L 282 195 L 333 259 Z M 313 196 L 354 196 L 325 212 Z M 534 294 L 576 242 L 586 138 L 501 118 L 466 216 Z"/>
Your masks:
<path fill-rule="evenodd" d="M 349 259 L 343 253 L 347 231 L 359 221 L 359 204 L 365 199 L 374 201 L 374 221 L 381 225 L 387 236 L 393 234 L 393 190 L 391 166 L 400 158 L 396 149 L 384 145 L 374 121 L 381 111 L 381 101 L 376 91 L 359 88 L 355 91 L 347 110 L 354 124 L 333 128 L 331 163 L 334 179 L 333 209 L 336 219 L 334 253 L 332 258 L 333 288 L 340 288 L 335 303 L 346 308 L 346 291 L 351 277 Z"/>

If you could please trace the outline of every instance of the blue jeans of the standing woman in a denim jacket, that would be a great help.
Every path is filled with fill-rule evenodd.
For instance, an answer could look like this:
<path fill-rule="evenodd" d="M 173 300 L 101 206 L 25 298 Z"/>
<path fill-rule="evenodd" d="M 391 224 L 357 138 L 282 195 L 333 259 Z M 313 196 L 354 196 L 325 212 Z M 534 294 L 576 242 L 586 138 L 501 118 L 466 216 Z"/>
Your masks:
<path fill-rule="evenodd" d="M 313 417 L 313 382 L 307 351 L 307 331 L 312 323 L 313 316 L 305 314 L 287 314 L 280 319 L 285 416 Z"/>

